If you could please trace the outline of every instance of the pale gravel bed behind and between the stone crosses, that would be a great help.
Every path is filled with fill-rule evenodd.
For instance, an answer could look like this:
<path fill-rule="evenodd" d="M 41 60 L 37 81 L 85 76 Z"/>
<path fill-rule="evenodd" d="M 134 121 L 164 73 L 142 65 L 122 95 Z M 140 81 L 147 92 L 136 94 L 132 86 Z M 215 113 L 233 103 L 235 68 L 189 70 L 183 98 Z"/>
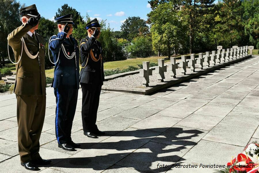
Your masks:
<path fill-rule="evenodd" d="M 197 64 L 195 64 L 195 68 L 196 69 L 198 68 Z M 191 69 L 186 68 L 186 72 L 187 73 L 191 72 Z M 182 75 L 180 67 L 176 69 L 176 75 Z M 168 67 L 167 67 L 167 72 L 165 72 L 165 78 L 173 78 L 170 76 Z M 155 74 L 155 70 L 152 71 L 152 76 L 149 76 L 149 83 L 152 83 L 152 82 L 158 82 L 157 74 Z M 117 87 L 128 87 L 128 88 L 139 87 L 139 86 L 142 86 L 142 78 L 139 76 L 139 73 L 137 73 L 137 74 L 132 74 L 132 75 L 104 81 L 103 84 L 104 86 L 117 86 Z"/>

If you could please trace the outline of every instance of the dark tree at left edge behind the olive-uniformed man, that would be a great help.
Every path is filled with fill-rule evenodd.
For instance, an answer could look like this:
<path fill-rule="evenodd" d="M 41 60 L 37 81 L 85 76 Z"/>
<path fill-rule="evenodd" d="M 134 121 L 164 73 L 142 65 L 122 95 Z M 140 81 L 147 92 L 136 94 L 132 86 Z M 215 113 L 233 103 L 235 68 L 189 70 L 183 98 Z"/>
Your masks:
<path fill-rule="evenodd" d="M 22 25 L 20 20 L 20 8 L 24 7 L 16 0 L 0 0 L 0 67 L 5 66 L 7 53 L 7 36 L 14 29 Z M 13 56 L 10 49 L 10 56 Z"/>

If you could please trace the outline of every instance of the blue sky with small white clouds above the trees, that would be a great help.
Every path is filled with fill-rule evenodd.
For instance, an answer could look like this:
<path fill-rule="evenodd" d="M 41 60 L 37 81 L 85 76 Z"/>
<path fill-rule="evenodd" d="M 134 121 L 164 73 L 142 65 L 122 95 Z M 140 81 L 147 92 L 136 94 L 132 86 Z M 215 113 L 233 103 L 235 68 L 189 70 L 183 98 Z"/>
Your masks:
<path fill-rule="evenodd" d="M 25 3 L 26 6 L 35 3 L 41 16 L 50 20 L 54 19 L 58 8 L 67 3 L 82 16 L 88 13 L 91 18 L 107 19 L 106 25 L 110 23 L 114 31 L 121 29 L 121 24 L 127 17 L 139 16 L 146 20 L 146 14 L 151 11 L 148 0 L 20 0 L 20 3 Z"/>

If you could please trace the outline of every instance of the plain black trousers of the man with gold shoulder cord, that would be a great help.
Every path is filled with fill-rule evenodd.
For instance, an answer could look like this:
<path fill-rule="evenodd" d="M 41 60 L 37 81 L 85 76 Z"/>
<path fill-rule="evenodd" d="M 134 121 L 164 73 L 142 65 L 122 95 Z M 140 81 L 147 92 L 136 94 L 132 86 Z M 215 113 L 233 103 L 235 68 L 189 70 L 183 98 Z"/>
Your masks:
<path fill-rule="evenodd" d="M 96 117 L 99 106 L 100 93 L 102 89 L 101 84 L 84 84 L 80 83 L 82 87 L 82 122 L 83 131 L 91 132 L 97 129 Z"/>

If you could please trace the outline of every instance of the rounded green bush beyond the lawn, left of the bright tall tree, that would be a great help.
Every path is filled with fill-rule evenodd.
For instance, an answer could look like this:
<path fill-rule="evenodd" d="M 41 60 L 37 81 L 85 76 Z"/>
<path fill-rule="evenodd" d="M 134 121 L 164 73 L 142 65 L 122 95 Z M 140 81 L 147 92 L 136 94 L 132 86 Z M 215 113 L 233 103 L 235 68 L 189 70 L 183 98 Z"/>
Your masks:
<path fill-rule="evenodd" d="M 131 57 L 148 57 L 152 50 L 151 37 L 135 37 L 125 50 L 130 53 Z"/>

